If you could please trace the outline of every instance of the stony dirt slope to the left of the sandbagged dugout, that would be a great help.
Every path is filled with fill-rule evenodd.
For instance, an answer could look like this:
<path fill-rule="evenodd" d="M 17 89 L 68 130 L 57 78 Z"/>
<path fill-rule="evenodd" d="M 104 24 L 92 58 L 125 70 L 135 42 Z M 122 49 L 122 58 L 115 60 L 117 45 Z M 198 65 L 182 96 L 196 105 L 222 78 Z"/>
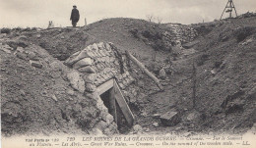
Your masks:
<path fill-rule="evenodd" d="M 25 45 L 0 46 L 2 133 L 87 134 L 98 121 L 96 103 L 69 85 L 65 79 L 70 70 L 60 61 L 34 44 Z"/>

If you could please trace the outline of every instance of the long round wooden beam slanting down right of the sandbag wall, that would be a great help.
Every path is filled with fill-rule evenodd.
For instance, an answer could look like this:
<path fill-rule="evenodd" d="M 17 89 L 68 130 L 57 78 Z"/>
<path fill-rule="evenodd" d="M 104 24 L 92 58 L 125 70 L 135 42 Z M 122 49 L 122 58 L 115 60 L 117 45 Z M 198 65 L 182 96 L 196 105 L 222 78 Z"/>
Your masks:
<path fill-rule="evenodd" d="M 160 79 L 157 78 L 157 77 L 156 77 L 154 74 L 152 74 L 151 72 L 149 72 L 149 70 L 147 70 L 147 69 L 145 68 L 145 66 L 144 66 L 141 62 L 139 62 L 133 55 L 131 55 L 131 54 L 129 53 L 129 51 L 126 50 L 125 52 L 126 52 L 127 56 L 132 60 L 132 62 L 134 62 L 145 74 L 147 74 L 148 76 L 150 76 L 150 77 L 154 80 L 154 82 L 156 82 L 156 83 L 158 84 L 160 90 L 163 90 L 163 88 L 162 88 L 162 86 L 161 86 L 161 84 L 160 84 Z"/>

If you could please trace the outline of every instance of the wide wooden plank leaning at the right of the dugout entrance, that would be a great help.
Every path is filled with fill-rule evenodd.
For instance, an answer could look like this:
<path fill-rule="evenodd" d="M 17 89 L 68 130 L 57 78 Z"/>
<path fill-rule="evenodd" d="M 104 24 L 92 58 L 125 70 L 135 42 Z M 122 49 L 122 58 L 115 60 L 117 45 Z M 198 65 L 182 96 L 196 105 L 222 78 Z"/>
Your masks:
<path fill-rule="evenodd" d="M 130 126 L 132 126 L 133 122 L 134 122 L 134 116 L 132 114 L 132 111 L 130 110 L 129 106 L 127 105 L 116 81 L 115 80 L 113 80 L 113 81 L 114 81 L 114 98 L 115 98 L 116 102 L 118 103 L 127 123 Z"/>

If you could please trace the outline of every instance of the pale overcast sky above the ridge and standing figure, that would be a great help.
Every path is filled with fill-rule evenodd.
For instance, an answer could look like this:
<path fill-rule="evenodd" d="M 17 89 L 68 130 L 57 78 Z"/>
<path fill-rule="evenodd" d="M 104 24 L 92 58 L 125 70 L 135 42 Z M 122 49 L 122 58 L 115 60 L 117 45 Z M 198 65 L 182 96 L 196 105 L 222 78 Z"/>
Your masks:
<path fill-rule="evenodd" d="M 39 26 L 48 21 L 55 26 L 71 25 L 73 5 L 77 5 L 85 25 L 106 18 L 147 19 L 159 17 L 161 23 L 195 24 L 220 19 L 227 0 L 0 0 L 0 27 Z M 239 14 L 256 12 L 256 0 L 233 0 Z"/>

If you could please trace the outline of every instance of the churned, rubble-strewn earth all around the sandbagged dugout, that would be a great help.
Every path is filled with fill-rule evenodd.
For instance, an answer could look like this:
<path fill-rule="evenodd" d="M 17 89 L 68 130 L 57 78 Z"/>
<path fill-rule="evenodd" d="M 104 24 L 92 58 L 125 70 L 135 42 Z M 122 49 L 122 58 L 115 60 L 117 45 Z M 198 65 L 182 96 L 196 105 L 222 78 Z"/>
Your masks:
<path fill-rule="evenodd" d="M 124 96 L 143 132 L 245 132 L 256 122 L 256 17 L 190 26 L 198 34 L 195 45 L 182 41 L 186 48 L 177 46 L 168 25 L 134 19 L 6 34 L 1 29 L 2 132 L 91 133 L 99 120 L 96 103 L 69 86 L 70 70 L 62 62 L 101 41 L 128 50 L 160 78 L 163 91 L 131 65 L 136 81 L 129 87 L 133 93 Z M 180 114 L 174 126 L 164 126 L 157 116 L 169 111 Z"/>

